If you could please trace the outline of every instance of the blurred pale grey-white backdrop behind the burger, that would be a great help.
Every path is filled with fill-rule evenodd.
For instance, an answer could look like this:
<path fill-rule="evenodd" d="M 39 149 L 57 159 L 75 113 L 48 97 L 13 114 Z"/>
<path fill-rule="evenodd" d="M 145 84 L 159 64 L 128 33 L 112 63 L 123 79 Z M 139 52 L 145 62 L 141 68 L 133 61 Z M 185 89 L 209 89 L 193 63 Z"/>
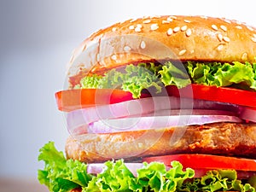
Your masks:
<path fill-rule="evenodd" d="M 38 149 L 63 150 L 67 130 L 56 108 L 72 50 L 92 32 L 144 15 L 209 15 L 256 26 L 243 1 L 0 1 L 0 177 L 37 177 Z"/>

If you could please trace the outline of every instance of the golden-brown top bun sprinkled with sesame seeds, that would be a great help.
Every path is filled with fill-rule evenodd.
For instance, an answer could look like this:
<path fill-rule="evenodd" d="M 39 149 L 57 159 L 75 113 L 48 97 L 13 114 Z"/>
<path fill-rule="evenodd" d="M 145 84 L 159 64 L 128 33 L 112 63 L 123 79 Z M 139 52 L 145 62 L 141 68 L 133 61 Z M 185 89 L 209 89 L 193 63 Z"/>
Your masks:
<path fill-rule="evenodd" d="M 236 20 L 203 16 L 155 16 L 126 20 L 84 40 L 68 76 L 97 73 L 134 61 L 255 61 L 256 28 Z"/>

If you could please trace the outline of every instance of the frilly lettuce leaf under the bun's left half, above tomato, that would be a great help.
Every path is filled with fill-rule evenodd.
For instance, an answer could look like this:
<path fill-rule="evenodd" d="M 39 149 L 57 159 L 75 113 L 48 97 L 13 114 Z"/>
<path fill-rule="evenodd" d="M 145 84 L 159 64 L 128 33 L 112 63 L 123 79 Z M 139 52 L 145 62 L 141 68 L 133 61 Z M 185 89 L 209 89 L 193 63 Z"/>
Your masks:
<path fill-rule="evenodd" d="M 84 77 L 76 87 L 122 89 L 131 92 L 134 98 L 139 98 L 142 90 L 154 90 L 154 93 L 160 93 L 164 85 L 175 84 L 182 88 L 190 83 L 187 73 L 169 61 L 164 67 L 151 62 L 139 63 L 137 66 L 131 64 L 119 71 L 112 69 L 103 76 Z"/>

